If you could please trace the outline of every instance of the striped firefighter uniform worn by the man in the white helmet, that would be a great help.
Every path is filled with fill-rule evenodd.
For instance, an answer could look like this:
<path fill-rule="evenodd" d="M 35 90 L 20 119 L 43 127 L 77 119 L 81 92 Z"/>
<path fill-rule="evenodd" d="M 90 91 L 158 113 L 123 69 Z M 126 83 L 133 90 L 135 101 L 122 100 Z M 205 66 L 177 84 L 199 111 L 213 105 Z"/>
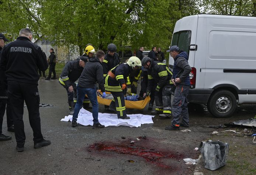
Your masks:
<path fill-rule="evenodd" d="M 127 117 L 121 85 L 127 83 L 127 77 L 131 71 L 132 68 L 127 63 L 122 63 L 111 69 L 105 78 L 105 91 L 111 92 L 114 97 L 110 108 L 116 109 L 118 118 Z"/>

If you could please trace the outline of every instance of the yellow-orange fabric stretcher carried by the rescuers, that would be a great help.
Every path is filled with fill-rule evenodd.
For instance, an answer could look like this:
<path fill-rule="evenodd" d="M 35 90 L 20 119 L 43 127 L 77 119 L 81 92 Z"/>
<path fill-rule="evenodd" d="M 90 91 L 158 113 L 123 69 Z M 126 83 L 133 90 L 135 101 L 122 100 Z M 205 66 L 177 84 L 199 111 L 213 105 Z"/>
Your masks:
<path fill-rule="evenodd" d="M 103 105 L 110 105 L 111 103 L 111 99 L 105 99 L 105 98 L 101 98 L 100 96 L 97 96 L 98 99 L 98 103 L 99 104 L 103 104 Z M 125 100 L 125 108 L 129 108 L 129 109 L 144 109 L 145 106 L 149 103 L 150 101 L 150 97 L 146 97 L 144 100 L 140 100 L 140 101 L 129 101 L 129 100 Z"/>

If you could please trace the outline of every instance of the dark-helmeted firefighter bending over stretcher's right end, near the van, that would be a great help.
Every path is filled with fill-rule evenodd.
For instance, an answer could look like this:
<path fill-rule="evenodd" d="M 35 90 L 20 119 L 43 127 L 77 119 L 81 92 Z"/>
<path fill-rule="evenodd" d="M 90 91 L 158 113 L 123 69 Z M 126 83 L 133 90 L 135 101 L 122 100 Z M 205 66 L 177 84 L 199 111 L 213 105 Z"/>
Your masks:
<path fill-rule="evenodd" d="M 148 87 L 146 93 L 143 95 L 144 98 L 151 92 L 154 80 L 157 82 L 155 89 L 156 109 L 151 113 L 159 114 L 159 117 L 171 118 L 172 72 L 165 63 L 157 62 L 148 56 L 142 59 L 141 64 L 144 68 L 148 69 Z"/>

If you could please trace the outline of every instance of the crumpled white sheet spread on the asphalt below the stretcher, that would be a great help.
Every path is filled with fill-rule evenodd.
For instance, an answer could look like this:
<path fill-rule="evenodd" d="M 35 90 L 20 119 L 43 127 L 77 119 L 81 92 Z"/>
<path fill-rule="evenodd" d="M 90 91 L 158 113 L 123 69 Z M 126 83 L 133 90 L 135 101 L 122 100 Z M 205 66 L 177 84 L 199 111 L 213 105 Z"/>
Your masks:
<path fill-rule="evenodd" d="M 152 115 L 143 115 L 143 114 L 130 114 L 127 116 L 130 117 L 128 120 L 118 119 L 117 114 L 112 113 L 98 113 L 98 120 L 101 125 L 107 126 L 129 126 L 129 127 L 139 127 L 142 124 L 149 124 L 153 123 Z M 64 119 L 60 121 L 72 121 L 72 115 L 65 116 Z M 93 126 L 93 115 L 90 111 L 85 110 L 82 108 L 78 114 L 77 123 L 87 126 Z"/>

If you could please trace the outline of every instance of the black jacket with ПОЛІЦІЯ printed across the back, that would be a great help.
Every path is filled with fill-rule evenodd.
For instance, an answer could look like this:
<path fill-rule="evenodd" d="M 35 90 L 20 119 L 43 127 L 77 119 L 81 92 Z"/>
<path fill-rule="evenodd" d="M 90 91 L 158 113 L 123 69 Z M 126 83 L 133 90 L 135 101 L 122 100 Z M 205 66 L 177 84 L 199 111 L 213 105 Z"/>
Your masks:
<path fill-rule="evenodd" d="M 38 69 L 45 71 L 47 67 L 41 48 L 25 36 L 19 36 L 3 48 L 0 69 L 5 71 L 8 81 L 38 84 Z"/>

